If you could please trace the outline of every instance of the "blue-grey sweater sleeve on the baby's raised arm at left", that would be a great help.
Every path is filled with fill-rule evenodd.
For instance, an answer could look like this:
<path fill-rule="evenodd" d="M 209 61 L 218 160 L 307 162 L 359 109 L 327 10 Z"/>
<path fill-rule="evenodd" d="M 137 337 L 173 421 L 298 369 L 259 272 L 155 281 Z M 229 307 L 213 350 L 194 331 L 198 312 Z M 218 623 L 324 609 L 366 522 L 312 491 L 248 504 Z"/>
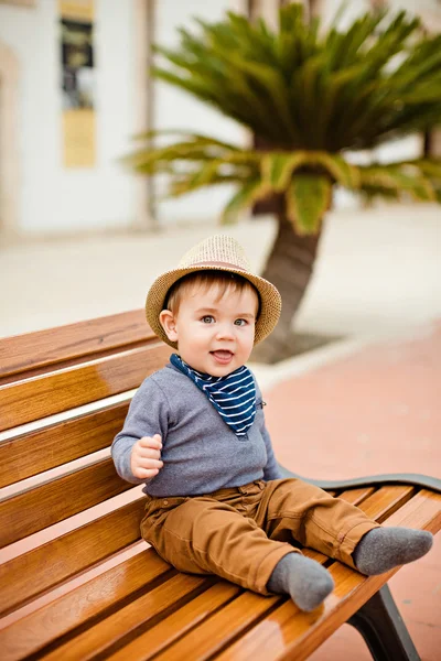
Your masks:
<path fill-rule="evenodd" d="M 133 484 L 147 484 L 150 479 L 135 477 L 130 469 L 131 451 L 142 436 L 160 434 L 162 446 L 169 429 L 169 405 L 165 394 L 154 378 L 148 377 L 131 400 L 122 430 L 111 444 L 111 457 L 116 470 L 122 479 Z"/>

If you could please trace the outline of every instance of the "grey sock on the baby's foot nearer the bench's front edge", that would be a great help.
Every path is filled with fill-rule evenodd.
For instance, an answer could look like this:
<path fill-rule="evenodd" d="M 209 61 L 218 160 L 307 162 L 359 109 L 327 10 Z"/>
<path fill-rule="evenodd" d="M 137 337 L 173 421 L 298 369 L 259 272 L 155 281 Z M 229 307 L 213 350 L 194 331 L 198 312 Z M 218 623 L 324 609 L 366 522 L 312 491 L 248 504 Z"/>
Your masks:
<path fill-rule="evenodd" d="M 288 553 L 276 565 L 269 592 L 288 594 L 301 610 L 314 610 L 332 592 L 334 581 L 325 567 L 300 553 Z"/>

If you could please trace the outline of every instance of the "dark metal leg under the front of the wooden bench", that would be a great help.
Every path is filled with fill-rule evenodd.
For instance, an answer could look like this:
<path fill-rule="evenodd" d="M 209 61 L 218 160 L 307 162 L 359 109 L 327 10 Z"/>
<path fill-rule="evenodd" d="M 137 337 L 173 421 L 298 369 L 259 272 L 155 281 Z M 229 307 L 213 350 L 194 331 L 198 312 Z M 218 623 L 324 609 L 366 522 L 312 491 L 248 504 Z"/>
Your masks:
<path fill-rule="evenodd" d="M 420 661 L 388 585 L 347 620 L 359 631 L 375 661 Z"/>

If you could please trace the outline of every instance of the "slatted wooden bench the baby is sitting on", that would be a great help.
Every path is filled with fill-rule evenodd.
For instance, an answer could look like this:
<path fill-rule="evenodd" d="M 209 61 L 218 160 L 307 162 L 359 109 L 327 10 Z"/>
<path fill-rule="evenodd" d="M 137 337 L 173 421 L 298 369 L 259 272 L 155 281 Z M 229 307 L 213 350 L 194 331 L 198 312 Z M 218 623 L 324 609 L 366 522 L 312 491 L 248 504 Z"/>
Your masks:
<path fill-rule="evenodd" d="M 0 340 L 2 661 L 300 661 L 346 621 L 376 659 L 418 659 L 386 585 L 394 572 L 365 578 L 306 550 L 336 587 L 304 614 L 181 574 L 140 539 L 141 487 L 116 475 L 109 445 L 170 353 L 142 311 Z M 440 480 L 319 484 L 387 524 L 441 527 Z"/>

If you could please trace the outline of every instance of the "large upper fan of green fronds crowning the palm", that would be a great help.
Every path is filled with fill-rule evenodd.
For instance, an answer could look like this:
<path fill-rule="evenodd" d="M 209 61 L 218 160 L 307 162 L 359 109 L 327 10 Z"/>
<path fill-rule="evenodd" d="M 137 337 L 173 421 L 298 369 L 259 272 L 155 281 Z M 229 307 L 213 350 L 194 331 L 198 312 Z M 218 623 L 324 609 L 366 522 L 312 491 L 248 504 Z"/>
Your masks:
<path fill-rule="evenodd" d="M 154 73 L 278 149 L 368 149 L 441 122 L 440 35 L 422 36 L 405 12 L 322 34 L 303 11 L 282 8 L 278 32 L 233 12 L 196 21 L 179 48 L 158 47 L 169 66 Z"/>

